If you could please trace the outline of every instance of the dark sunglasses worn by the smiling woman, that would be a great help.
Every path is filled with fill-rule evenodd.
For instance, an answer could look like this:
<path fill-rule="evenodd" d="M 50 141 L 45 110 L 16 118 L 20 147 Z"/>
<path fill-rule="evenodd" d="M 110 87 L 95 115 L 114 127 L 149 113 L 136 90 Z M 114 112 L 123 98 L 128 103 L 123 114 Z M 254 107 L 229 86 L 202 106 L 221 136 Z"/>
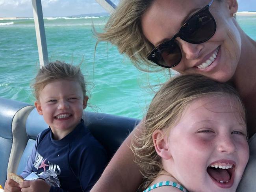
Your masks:
<path fill-rule="evenodd" d="M 174 67 L 180 63 L 182 52 L 175 39 L 199 44 L 208 41 L 216 31 L 216 22 L 209 11 L 211 2 L 187 19 L 180 31 L 168 41 L 158 45 L 148 55 L 147 59 L 162 67 Z"/>

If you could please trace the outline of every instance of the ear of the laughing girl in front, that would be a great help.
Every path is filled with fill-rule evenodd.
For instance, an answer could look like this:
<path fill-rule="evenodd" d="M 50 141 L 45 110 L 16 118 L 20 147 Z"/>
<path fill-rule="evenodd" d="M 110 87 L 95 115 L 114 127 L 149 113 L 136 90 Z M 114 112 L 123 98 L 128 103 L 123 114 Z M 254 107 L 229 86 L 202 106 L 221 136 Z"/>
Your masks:
<path fill-rule="evenodd" d="M 172 156 L 168 146 L 166 130 L 158 129 L 154 131 L 152 138 L 156 153 L 163 159 L 170 159 Z"/>

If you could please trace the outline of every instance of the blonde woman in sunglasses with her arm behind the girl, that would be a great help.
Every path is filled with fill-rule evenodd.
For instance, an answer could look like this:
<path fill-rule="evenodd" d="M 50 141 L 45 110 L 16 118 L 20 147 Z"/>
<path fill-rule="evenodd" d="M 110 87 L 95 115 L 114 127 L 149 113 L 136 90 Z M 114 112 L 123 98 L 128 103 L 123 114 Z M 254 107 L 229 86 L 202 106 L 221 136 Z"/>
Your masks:
<path fill-rule="evenodd" d="M 181 74 L 230 81 L 247 109 L 252 137 L 256 133 L 256 42 L 237 24 L 237 9 L 237 0 L 122 0 L 98 38 L 117 45 L 143 70 L 147 70 L 146 64 L 160 65 Z M 91 192 L 136 191 L 142 177 L 129 146 L 132 135 L 141 129 L 142 123 L 122 144 Z M 250 140 L 250 169 L 240 191 L 256 191 L 255 182 L 247 177 L 256 172 L 251 164 L 254 140 Z"/>

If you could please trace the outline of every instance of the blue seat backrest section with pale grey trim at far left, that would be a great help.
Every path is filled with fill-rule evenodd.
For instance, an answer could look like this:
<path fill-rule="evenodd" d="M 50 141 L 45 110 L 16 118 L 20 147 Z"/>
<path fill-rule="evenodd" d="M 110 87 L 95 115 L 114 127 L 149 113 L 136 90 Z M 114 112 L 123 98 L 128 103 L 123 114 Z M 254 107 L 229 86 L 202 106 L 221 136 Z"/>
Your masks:
<path fill-rule="evenodd" d="M 7 172 L 17 170 L 17 162 L 28 141 L 25 122 L 33 108 L 28 103 L 0 98 L 0 185 L 2 186 L 6 181 Z"/>

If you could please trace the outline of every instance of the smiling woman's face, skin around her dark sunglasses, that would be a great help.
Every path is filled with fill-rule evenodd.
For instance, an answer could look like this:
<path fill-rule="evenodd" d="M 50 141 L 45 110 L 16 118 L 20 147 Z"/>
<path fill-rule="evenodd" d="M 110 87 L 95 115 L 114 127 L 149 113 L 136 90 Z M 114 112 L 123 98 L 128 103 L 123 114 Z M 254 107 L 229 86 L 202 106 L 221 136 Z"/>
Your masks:
<path fill-rule="evenodd" d="M 234 2 L 236 0 L 214 0 L 211 4 L 210 12 L 217 30 L 210 40 L 191 44 L 176 38 L 182 59 L 173 67 L 174 70 L 181 74 L 202 74 L 221 82 L 234 76 L 241 52 L 240 33 L 232 17 L 237 11 Z M 155 0 L 142 17 L 143 33 L 154 46 L 158 46 L 171 39 L 189 16 L 209 3 L 210 0 Z M 210 65 L 206 64 L 210 57 L 215 56 Z"/>

